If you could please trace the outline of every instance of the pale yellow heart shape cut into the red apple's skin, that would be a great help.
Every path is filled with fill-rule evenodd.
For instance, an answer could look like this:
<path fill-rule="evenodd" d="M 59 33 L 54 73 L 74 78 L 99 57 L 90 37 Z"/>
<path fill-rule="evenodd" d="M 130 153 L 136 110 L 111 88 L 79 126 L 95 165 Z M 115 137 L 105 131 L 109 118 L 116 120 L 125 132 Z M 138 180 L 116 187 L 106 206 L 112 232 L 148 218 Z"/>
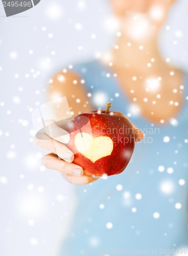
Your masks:
<path fill-rule="evenodd" d="M 77 133 L 74 143 L 78 152 L 93 163 L 110 156 L 113 150 L 113 141 L 107 136 L 94 138 L 87 133 Z"/>

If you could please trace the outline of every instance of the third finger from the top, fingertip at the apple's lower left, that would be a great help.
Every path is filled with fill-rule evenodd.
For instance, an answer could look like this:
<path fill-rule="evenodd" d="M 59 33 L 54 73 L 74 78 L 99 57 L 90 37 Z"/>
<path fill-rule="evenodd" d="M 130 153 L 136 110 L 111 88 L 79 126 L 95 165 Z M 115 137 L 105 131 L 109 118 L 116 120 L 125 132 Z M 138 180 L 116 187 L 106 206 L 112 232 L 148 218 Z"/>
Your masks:
<path fill-rule="evenodd" d="M 54 154 L 45 155 L 42 158 L 42 164 L 49 169 L 59 170 L 59 172 L 70 176 L 80 177 L 84 174 L 81 166 L 74 163 L 67 163 L 62 159 L 58 159 Z"/>

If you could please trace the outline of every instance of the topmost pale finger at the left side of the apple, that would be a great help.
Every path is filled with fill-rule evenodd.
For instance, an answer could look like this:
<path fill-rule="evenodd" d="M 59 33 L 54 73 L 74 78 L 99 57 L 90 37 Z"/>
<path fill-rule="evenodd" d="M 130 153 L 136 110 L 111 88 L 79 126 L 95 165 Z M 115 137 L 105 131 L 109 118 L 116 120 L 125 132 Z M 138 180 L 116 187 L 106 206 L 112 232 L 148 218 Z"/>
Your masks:
<path fill-rule="evenodd" d="M 67 131 L 65 131 L 64 129 L 62 129 L 61 127 L 59 127 L 55 121 L 53 121 L 53 120 L 48 120 L 48 121 L 49 121 L 49 123 L 50 122 L 51 123 L 42 129 L 44 131 L 44 133 L 46 133 L 51 138 L 53 138 L 61 143 L 67 144 L 70 141 L 69 133 Z"/>

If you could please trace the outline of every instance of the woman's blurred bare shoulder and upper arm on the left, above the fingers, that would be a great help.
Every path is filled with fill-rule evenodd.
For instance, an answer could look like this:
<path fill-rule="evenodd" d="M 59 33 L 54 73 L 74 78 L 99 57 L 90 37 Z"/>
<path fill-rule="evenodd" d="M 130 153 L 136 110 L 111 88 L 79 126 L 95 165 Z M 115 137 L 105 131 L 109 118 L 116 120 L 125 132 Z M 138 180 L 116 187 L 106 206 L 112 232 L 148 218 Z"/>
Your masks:
<path fill-rule="evenodd" d="M 66 96 L 70 108 L 75 114 L 90 110 L 86 69 L 91 69 L 95 61 L 75 63 L 57 71 L 50 79 L 46 96 L 48 100 Z M 82 75 L 83 74 L 83 75 Z"/>

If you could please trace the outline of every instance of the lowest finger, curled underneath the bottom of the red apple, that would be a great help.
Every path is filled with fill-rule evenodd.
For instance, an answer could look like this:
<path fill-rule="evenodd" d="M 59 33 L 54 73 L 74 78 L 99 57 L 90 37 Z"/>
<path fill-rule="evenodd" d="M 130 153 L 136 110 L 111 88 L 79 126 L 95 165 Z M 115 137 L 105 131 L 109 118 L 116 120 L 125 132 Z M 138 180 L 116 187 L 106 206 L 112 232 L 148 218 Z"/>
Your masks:
<path fill-rule="evenodd" d="M 92 176 L 81 176 L 81 177 L 74 177 L 68 174 L 62 174 L 63 178 L 65 180 L 67 180 L 69 183 L 72 184 L 78 184 L 78 185 L 84 185 L 84 184 L 88 184 L 94 181 L 97 181 L 99 179 L 98 178 L 93 178 Z"/>

